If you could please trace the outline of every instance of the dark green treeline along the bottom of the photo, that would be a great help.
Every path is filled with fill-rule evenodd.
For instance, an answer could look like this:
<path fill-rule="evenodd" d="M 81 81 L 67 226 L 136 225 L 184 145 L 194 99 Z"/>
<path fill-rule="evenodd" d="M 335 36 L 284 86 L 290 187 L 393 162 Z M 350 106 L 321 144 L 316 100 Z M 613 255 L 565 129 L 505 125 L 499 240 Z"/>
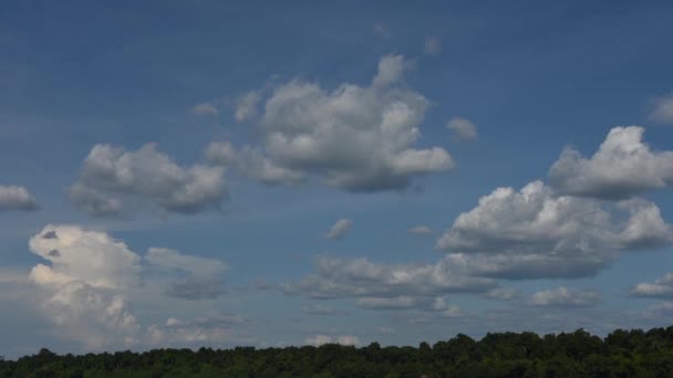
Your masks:
<path fill-rule="evenodd" d="M 155 349 L 0 361 L 1 377 L 673 377 L 673 326 L 538 336 L 458 335 L 435 345 Z"/>

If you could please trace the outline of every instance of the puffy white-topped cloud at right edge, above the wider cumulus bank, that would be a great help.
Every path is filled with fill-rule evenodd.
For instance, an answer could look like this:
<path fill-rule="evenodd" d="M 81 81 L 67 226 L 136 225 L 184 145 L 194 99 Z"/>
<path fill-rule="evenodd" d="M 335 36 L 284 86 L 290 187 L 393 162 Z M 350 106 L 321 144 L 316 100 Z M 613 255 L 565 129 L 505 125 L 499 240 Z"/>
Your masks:
<path fill-rule="evenodd" d="M 624 199 L 673 185 L 673 151 L 653 151 L 642 127 L 614 127 L 590 158 L 567 148 L 549 170 L 561 195 Z"/>

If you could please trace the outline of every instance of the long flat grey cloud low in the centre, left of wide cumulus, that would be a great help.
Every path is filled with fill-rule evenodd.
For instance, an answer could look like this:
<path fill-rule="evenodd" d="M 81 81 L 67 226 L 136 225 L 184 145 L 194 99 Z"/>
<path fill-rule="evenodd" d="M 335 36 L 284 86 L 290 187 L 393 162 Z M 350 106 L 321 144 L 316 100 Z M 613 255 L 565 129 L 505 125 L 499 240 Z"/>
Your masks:
<path fill-rule="evenodd" d="M 360 305 L 375 307 L 427 301 L 447 293 L 485 292 L 496 286 L 493 280 L 466 276 L 460 266 L 446 259 L 434 265 L 392 265 L 366 259 L 319 256 L 314 265 L 314 274 L 281 284 L 281 290 L 312 298 L 364 298 Z"/>

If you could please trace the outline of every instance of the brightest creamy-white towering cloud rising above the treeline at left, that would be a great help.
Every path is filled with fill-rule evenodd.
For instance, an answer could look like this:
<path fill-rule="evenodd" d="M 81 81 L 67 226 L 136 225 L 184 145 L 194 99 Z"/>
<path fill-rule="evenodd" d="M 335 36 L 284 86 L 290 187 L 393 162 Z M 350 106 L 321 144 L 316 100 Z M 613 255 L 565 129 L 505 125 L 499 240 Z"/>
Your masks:
<path fill-rule="evenodd" d="M 35 265 L 29 277 L 49 296 L 45 314 L 65 337 L 95 349 L 137 342 L 139 326 L 122 294 L 137 282 L 137 254 L 103 232 L 74 225 L 46 225 L 29 246 L 50 262 Z"/>

